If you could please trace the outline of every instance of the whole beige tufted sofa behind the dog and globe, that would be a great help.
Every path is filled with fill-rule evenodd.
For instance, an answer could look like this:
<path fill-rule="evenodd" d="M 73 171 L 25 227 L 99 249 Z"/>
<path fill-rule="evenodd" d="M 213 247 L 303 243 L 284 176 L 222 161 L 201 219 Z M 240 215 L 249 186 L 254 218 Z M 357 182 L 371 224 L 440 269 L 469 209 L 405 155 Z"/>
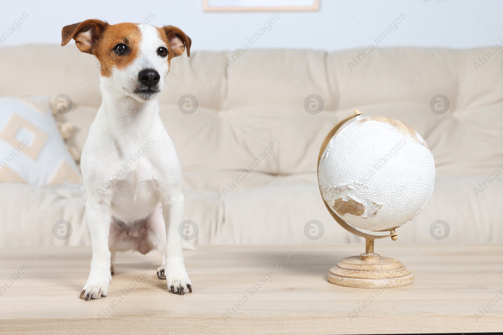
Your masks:
<path fill-rule="evenodd" d="M 474 191 L 495 170 L 503 172 L 498 165 L 503 163 L 503 62 L 493 57 L 477 71 L 474 62 L 485 49 L 392 48 L 377 49 L 357 64 L 353 57 L 359 51 L 249 50 L 234 58 L 227 72 L 224 63 L 231 52 L 195 51 L 172 61 L 160 116 L 182 164 L 185 217 L 199 226 L 191 243 L 360 241 L 330 217 L 316 182 L 322 139 L 355 108 L 364 116 L 392 117 L 417 127 L 435 157 L 433 195 L 422 213 L 398 229 L 393 243 L 441 243 L 430 235 L 437 219 L 450 226 L 446 242 L 503 240 L 503 177 L 486 182 L 482 193 Z M 74 45 L 3 47 L 0 69 L 0 95 L 68 94 L 74 108 L 60 121 L 74 125 L 69 142 L 82 148 L 101 103 L 93 56 Z M 303 106 L 313 93 L 325 103 L 318 115 Z M 451 101 L 445 115 L 429 106 L 439 93 Z M 197 113 L 181 113 L 178 102 L 184 94 L 197 97 Z M 272 156 L 230 189 L 228 183 L 249 170 L 247 164 L 275 139 L 281 144 Z M 224 194 L 224 187 L 232 192 Z M 25 185 L 22 190 L 0 184 L 0 248 L 89 245 L 85 198 L 83 188 Z M 59 219 L 73 226 L 67 241 L 52 236 Z M 318 241 L 304 235 L 311 219 L 324 225 Z"/>

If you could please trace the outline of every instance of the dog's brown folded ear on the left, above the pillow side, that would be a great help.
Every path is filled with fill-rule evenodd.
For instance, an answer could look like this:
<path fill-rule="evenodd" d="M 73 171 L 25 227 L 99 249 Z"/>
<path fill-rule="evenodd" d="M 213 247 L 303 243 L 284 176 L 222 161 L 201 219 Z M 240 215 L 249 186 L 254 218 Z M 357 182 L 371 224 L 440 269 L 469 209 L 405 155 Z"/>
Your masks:
<path fill-rule="evenodd" d="M 96 19 L 65 26 L 61 30 L 61 45 L 68 44 L 73 38 L 80 51 L 93 54 L 93 47 L 96 41 L 102 37 L 108 26 L 107 22 Z"/>

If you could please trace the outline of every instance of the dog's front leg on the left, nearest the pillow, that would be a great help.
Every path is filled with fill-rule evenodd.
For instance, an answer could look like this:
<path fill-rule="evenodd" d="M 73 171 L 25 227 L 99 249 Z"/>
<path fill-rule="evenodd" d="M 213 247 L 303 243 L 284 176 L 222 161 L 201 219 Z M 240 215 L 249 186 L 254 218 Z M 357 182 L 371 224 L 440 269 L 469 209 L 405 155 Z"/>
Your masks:
<path fill-rule="evenodd" d="M 111 253 L 108 247 L 111 219 L 110 206 L 88 199 L 86 213 L 91 233 L 93 258 L 89 278 L 80 293 L 80 298 L 89 301 L 106 297 L 108 286 L 112 281 L 110 275 Z"/>

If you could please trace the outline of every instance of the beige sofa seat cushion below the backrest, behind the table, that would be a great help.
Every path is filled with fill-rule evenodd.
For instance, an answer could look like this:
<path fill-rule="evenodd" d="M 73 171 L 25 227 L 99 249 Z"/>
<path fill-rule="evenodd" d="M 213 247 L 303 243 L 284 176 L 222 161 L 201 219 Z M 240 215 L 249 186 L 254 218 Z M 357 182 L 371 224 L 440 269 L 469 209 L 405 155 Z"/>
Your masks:
<path fill-rule="evenodd" d="M 499 168 L 500 173 L 503 168 Z M 206 179 L 207 177 L 205 177 Z M 199 227 L 192 244 L 337 244 L 363 242 L 345 231 L 321 201 L 316 175 L 291 177 L 256 174 L 255 188 L 240 185 L 225 196 L 221 191 L 185 190 L 185 219 Z M 397 232 L 398 241 L 377 243 L 440 243 L 430 233 L 432 224 L 444 220 L 450 227 L 447 242 L 497 243 L 503 239 L 503 177 L 489 184 L 482 176 L 437 177 L 430 201 Z M 310 182 L 311 181 L 311 182 Z M 481 188 L 479 183 L 484 183 Z M 479 189 L 478 192 L 474 188 Z M 28 196 L 29 194 L 29 196 Z M 90 245 L 86 192 L 64 187 L 0 184 L 0 248 L 47 245 Z M 58 220 L 73 228 L 66 241 L 52 234 Z M 324 227 L 319 240 L 310 240 L 304 227 L 318 220 Z M 379 234 L 379 233 L 376 233 Z"/>

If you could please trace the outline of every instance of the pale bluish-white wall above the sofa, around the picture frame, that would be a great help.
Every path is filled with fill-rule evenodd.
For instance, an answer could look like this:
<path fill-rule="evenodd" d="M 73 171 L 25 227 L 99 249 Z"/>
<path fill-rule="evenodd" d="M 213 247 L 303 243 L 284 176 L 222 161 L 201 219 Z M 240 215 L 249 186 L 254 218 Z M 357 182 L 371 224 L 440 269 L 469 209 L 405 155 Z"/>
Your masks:
<path fill-rule="evenodd" d="M 503 2 L 497 0 L 320 0 L 318 12 L 282 12 L 254 46 L 341 50 L 367 46 L 400 13 L 406 19 L 382 46 L 471 48 L 503 40 Z M 109 23 L 140 22 L 149 13 L 156 26 L 175 25 L 193 50 L 241 48 L 274 13 L 205 13 L 202 0 L 30 0 L 10 1 L 0 10 L 0 35 L 23 13 L 29 19 L 3 45 L 60 43 L 61 28 L 91 18 Z M 161 7 L 161 5 L 164 5 Z M 11 31 L 12 32 L 12 31 Z"/>

